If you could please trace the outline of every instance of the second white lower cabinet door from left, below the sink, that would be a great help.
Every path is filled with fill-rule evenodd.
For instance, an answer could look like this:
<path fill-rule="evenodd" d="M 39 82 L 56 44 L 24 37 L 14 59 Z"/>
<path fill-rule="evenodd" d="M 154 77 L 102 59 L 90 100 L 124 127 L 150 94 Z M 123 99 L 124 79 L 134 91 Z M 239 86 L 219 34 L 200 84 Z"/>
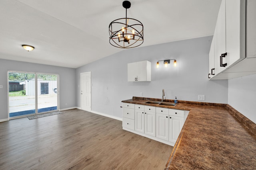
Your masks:
<path fill-rule="evenodd" d="M 145 112 L 145 134 L 156 137 L 156 113 Z"/>

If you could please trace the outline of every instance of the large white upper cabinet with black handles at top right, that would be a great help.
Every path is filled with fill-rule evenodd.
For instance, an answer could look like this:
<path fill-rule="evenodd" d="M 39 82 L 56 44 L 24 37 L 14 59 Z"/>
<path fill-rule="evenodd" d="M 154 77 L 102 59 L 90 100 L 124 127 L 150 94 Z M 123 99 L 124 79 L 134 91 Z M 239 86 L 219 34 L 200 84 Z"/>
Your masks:
<path fill-rule="evenodd" d="M 211 80 L 256 73 L 255 8 L 254 0 L 248 0 L 247 6 L 246 0 L 222 0 L 209 52 L 208 78 Z M 254 59 L 248 61 L 249 57 Z"/>

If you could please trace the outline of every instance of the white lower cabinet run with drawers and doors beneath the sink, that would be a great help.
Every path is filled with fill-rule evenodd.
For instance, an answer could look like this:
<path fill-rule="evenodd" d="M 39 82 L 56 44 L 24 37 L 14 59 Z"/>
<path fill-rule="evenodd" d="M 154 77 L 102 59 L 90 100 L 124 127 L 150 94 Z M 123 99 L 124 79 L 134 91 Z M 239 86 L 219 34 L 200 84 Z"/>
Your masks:
<path fill-rule="evenodd" d="M 123 129 L 174 146 L 188 111 L 123 103 Z"/>

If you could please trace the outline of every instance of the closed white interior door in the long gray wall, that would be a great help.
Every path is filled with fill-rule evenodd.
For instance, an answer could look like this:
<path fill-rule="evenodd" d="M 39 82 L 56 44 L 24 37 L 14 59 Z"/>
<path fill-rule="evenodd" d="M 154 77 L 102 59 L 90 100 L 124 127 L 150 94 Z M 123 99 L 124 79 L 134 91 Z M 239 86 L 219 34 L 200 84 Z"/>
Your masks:
<path fill-rule="evenodd" d="M 81 73 L 81 109 L 91 111 L 91 72 Z"/>

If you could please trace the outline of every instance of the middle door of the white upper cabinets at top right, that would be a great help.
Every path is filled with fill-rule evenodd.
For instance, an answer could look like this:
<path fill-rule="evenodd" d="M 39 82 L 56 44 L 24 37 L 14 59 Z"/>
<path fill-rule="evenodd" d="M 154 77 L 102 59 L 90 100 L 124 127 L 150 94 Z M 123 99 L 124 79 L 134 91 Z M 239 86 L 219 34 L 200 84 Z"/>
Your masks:
<path fill-rule="evenodd" d="M 215 74 L 222 72 L 226 67 L 220 66 L 220 56 L 226 53 L 226 0 L 222 0 L 218 19 L 214 31 L 214 66 Z M 223 58 L 222 63 L 226 63 L 227 57 Z"/>

